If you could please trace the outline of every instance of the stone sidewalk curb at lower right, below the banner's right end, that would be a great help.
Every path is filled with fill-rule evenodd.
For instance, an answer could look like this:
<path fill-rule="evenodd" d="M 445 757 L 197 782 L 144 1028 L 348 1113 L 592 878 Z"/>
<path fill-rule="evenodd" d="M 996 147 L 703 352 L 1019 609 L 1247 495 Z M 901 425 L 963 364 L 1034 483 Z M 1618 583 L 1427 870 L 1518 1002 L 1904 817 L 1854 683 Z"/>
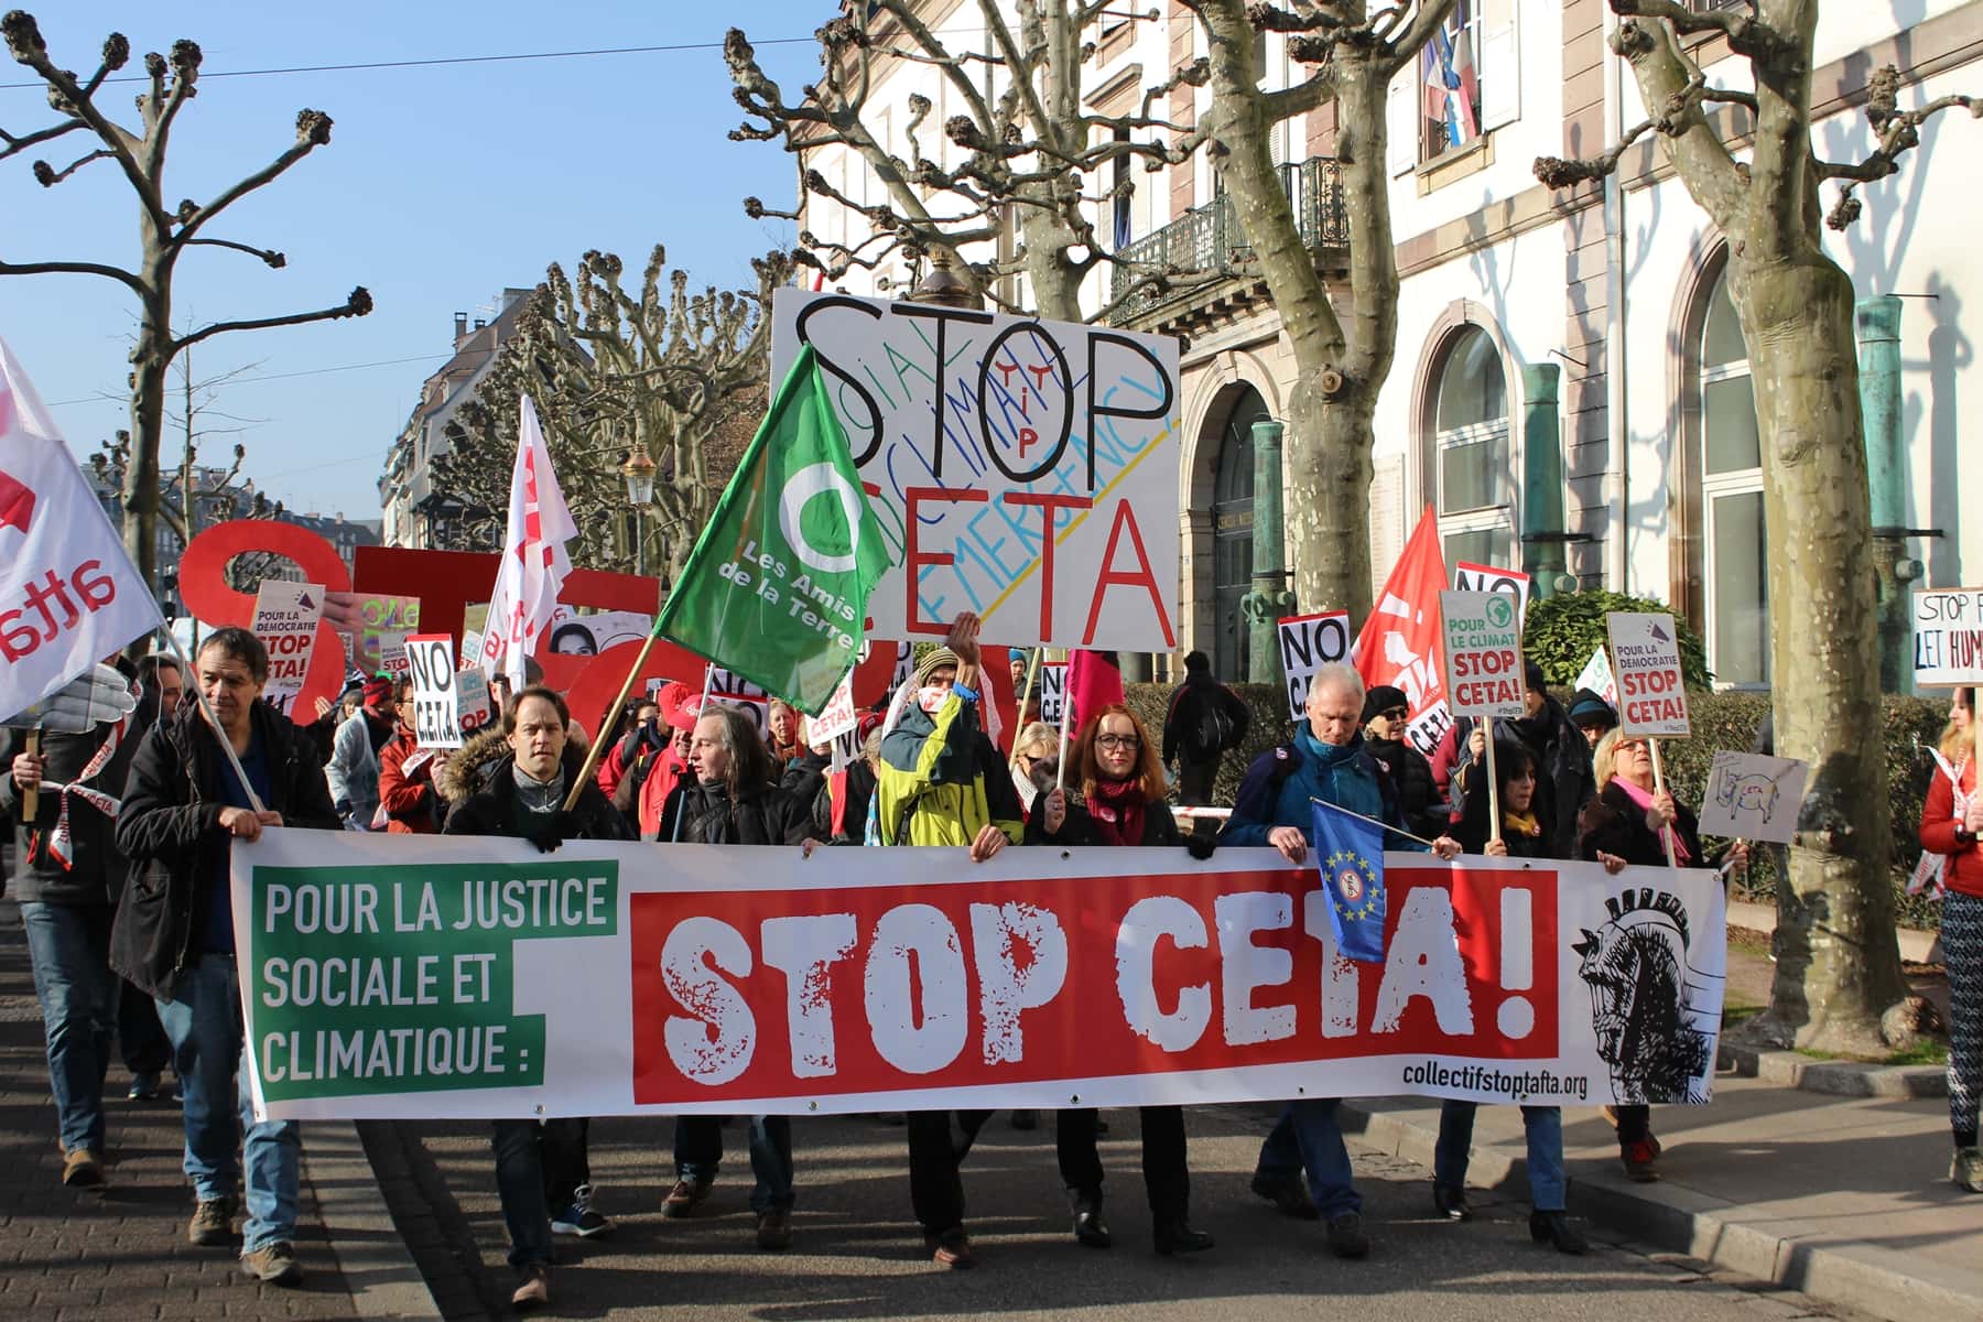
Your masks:
<path fill-rule="evenodd" d="M 1438 1122 L 1434 1118 L 1426 1124 L 1410 1114 L 1412 1106 L 1414 1102 L 1344 1100 L 1342 1128 L 1360 1132 L 1366 1142 L 1392 1156 L 1430 1167 Z M 1824 1302 L 1858 1308 L 1886 1322 L 1977 1316 L 1983 1274 L 1953 1272 L 1860 1243 L 1816 1245 L 1810 1239 L 1836 1229 L 1783 1217 L 1745 1221 L 1749 1209 L 1741 1203 L 1680 1185 L 1630 1183 L 1622 1175 L 1606 1175 L 1606 1167 L 1614 1169 L 1616 1161 L 1565 1161 L 1571 1211 L 1610 1231 Z M 1475 1146 L 1467 1161 L 1467 1183 L 1509 1185 L 1513 1197 L 1525 1199 L 1527 1161 L 1501 1148 Z"/>

